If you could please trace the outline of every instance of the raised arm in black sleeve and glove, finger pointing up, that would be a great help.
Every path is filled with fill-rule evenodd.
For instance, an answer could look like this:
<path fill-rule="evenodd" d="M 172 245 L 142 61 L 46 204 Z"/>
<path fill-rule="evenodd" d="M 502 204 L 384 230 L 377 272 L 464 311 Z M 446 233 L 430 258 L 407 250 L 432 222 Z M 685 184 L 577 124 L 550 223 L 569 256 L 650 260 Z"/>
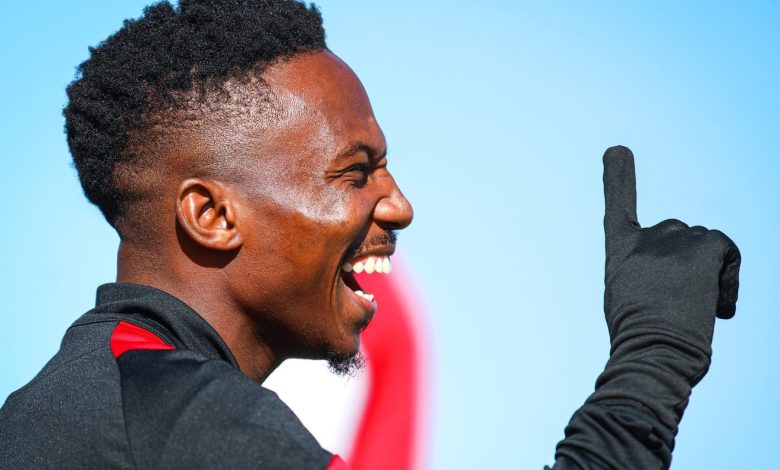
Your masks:
<path fill-rule="evenodd" d="M 740 253 L 723 233 L 679 220 L 641 228 L 626 147 L 604 154 L 604 199 L 610 357 L 553 468 L 668 468 L 691 389 L 709 369 L 715 317 L 734 316 Z"/>

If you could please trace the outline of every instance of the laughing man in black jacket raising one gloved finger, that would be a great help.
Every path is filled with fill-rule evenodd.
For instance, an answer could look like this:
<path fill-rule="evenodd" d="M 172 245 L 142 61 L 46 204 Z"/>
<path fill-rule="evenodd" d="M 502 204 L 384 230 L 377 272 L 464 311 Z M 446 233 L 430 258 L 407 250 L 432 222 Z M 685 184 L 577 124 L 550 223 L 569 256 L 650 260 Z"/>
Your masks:
<path fill-rule="evenodd" d="M 347 468 L 260 384 L 285 359 L 359 366 L 412 209 L 354 73 L 292 0 L 181 0 L 126 22 L 68 88 L 84 192 L 120 235 L 116 284 L 0 411 L 0 467 Z M 633 157 L 605 155 L 612 355 L 556 468 L 663 468 L 739 254 L 640 229 Z M 520 445 L 520 443 L 518 443 Z"/>

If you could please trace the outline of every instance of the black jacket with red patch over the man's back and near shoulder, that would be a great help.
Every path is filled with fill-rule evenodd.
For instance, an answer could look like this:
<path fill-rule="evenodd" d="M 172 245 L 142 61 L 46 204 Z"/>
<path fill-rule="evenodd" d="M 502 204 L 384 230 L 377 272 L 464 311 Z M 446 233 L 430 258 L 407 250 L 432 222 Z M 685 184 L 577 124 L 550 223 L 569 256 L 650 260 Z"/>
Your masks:
<path fill-rule="evenodd" d="M 106 284 L 0 409 L 0 468 L 339 468 L 216 331 L 151 287 Z"/>

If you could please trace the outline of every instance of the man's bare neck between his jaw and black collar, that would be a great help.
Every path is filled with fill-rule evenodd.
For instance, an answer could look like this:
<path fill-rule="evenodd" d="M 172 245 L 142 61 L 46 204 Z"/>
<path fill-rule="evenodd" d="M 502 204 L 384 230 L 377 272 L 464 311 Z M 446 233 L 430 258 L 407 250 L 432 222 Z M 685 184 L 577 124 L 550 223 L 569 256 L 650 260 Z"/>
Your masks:
<path fill-rule="evenodd" d="M 255 333 L 250 315 L 233 301 L 224 273 L 209 263 L 171 260 L 170 250 L 151 252 L 122 241 L 117 256 L 117 282 L 155 287 L 195 310 L 219 334 L 236 358 L 241 372 L 262 383 L 282 362 Z"/>

